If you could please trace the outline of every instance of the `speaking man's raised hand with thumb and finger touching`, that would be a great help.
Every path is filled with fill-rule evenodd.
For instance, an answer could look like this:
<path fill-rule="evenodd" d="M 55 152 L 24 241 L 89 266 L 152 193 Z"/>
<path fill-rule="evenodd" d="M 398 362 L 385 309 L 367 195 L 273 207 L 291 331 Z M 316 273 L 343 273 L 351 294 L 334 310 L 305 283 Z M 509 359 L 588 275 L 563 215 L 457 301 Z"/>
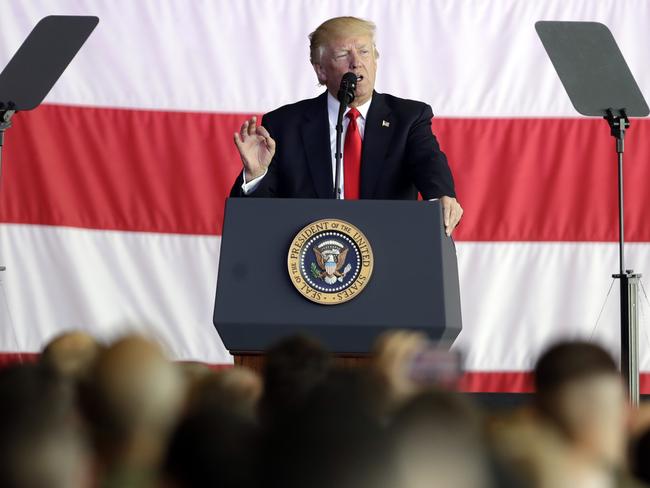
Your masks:
<path fill-rule="evenodd" d="M 275 154 L 275 141 L 269 132 L 257 125 L 257 117 L 251 117 L 242 124 L 239 132 L 235 132 L 234 138 L 244 165 L 246 181 L 262 176 Z"/>

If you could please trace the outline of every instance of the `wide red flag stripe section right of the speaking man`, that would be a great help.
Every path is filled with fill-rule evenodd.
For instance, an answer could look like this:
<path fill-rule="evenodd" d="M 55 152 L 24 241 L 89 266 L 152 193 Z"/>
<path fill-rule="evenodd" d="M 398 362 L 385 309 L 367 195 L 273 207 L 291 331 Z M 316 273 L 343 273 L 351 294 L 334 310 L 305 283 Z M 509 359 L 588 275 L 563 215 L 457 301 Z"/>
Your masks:
<path fill-rule="evenodd" d="M 616 241 L 617 159 L 602 119 L 442 119 L 466 217 L 457 239 Z M 650 241 L 650 121 L 626 138 L 626 238 Z"/>

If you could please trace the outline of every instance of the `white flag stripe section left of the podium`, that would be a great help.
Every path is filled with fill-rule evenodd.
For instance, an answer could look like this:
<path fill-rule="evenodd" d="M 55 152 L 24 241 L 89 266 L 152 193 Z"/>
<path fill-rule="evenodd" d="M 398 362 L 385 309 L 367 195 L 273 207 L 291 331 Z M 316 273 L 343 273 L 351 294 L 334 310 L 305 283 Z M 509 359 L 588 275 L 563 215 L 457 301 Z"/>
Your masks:
<path fill-rule="evenodd" d="M 174 358 L 229 363 L 212 325 L 220 242 L 2 225 L 0 261 L 7 266 L 3 282 L 13 326 L 2 323 L 0 350 L 38 351 L 71 328 L 104 340 L 137 331 Z"/>

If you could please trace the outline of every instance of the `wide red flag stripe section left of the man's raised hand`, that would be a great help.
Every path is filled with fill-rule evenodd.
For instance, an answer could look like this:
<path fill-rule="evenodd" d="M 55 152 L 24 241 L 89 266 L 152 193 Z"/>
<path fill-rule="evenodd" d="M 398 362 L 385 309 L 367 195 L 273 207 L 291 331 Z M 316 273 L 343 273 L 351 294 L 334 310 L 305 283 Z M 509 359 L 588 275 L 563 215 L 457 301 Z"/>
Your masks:
<path fill-rule="evenodd" d="M 245 115 L 44 105 L 5 138 L 0 219 L 220 234 Z"/>

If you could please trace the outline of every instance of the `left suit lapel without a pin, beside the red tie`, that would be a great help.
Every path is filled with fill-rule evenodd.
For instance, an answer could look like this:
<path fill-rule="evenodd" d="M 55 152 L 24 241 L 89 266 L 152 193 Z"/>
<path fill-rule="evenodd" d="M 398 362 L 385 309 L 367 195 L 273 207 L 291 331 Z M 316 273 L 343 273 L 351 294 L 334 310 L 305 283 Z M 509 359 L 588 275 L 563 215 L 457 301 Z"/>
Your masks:
<path fill-rule="evenodd" d="M 318 198 L 332 198 L 332 150 L 327 114 L 327 92 L 314 100 L 313 110 L 307 110 L 301 127 L 302 143 L 307 165 Z"/>

